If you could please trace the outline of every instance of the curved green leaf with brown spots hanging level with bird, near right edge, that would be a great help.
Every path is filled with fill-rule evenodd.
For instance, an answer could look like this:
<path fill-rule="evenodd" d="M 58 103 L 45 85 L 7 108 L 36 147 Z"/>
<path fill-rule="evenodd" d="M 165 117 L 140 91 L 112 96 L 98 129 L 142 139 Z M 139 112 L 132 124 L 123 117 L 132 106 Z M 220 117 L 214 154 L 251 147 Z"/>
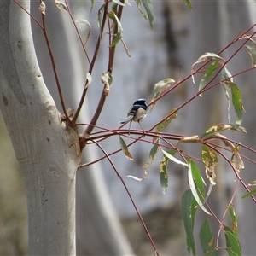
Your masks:
<path fill-rule="evenodd" d="M 232 92 L 232 103 L 236 111 L 236 125 L 241 125 L 244 108 L 241 102 L 241 91 L 235 83 L 225 81 L 225 84 L 230 87 Z"/>

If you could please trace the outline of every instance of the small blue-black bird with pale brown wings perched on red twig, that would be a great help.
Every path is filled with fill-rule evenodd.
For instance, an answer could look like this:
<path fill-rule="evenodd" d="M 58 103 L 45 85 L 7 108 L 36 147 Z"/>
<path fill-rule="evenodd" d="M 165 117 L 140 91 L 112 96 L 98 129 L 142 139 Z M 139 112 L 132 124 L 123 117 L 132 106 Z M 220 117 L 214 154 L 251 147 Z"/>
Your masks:
<path fill-rule="evenodd" d="M 143 130 L 143 126 L 141 125 L 140 121 L 142 121 L 146 117 L 147 108 L 148 108 L 148 105 L 145 99 L 137 99 L 137 101 L 134 102 L 132 107 L 129 109 L 126 119 L 122 120 L 120 123 L 127 124 L 129 121 L 138 122 Z M 131 128 L 131 123 L 129 125 L 128 135 L 130 135 L 130 128 Z"/>

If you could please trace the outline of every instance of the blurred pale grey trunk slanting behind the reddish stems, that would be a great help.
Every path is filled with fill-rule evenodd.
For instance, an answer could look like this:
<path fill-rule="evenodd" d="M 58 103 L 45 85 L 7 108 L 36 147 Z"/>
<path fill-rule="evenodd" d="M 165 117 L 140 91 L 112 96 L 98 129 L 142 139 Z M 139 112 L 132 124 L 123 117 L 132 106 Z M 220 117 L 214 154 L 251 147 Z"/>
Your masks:
<path fill-rule="evenodd" d="M 86 13 L 89 8 L 81 7 L 79 3 L 69 3 L 73 9 L 74 19 L 78 20 L 76 10 L 80 7 Z M 40 20 L 38 3 L 32 3 L 31 13 Z M 96 14 L 90 15 L 90 22 L 96 22 Z M 54 2 L 47 3 L 46 27 L 49 35 L 51 48 L 55 56 L 55 64 L 58 70 L 61 88 L 68 108 L 76 108 L 83 90 L 85 74 L 88 67 L 84 67 L 84 52 L 81 52 L 81 45 L 77 33 L 67 13 L 61 12 Z M 83 26 L 82 26 L 83 27 Z M 82 28 L 79 26 L 79 29 Z M 43 32 L 35 22 L 32 23 L 32 35 L 38 56 L 38 62 L 42 73 L 45 74 L 45 83 L 54 96 L 56 104 L 59 102 L 59 95 L 56 91 L 55 78 L 52 68 L 49 66 L 49 54 L 45 47 Z M 91 56 L 95 50 L 98 28 L 92 29 L 88 42 L 88 53 Z M 102 51 L 108 51 L 107 44 L 102 45 Z M 102 61 L 99 55 L 98 62 Z M 106 61 L 108 63 L 108 61 Z M 101 70 L 102 72 L 102 70 Z M 46 77 L 47 75 L 47 77 Z M 100 79 L 92 73 L 93 83 L 90 90 L 95 90 Z M 98 97 L 87 97 L 81 111 L 79 122 L 86 123 L 91 118 L 91 111 L 96 108 Z M 84 127 L 81 127 L 81 130 Z M 99 157 L 96 148 L 88 145 L 84 148 L 82 162 L 90 162 Z M 76 246 L 77 255 L 133 255 L 131 245 L 125 236 L 124 230 L 119 223 L 119 217 L 111 197 L 108 193 L 103 172 L 106 172 L 101 163 L 77 172 L 76 186 Z"/>

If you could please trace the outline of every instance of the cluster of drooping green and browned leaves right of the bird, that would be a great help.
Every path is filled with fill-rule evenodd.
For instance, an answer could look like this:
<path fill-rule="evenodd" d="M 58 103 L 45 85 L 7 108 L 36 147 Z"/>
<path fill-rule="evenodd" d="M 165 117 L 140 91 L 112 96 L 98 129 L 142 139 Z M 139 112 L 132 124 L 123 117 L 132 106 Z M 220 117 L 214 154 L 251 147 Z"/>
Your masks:
<path fill-rule="evenodd" d="M 252 40 L 255 33 L 256 32 L 253 32 L 252 35 L 243 34 L 240 36 L 240 38 L 236 38 L 236 40 L 234 40 L 233 42 L 233 44 L 235 44 L 237 40 L 244 39 L 245 43 L 238 48 L 236 53 L 242 48 L 246 48 L 247 53 L 250 55 L 252 60 L 252 67 L 248 70 L 241 71 L 241 73 L 246 73 L 255 68 L 256 44 Z M 253 42 L 253 46 L 248 46 L 248 41 Z M 173 119 L 177 118 L 177 113 L 179 109 L 187 105 L 191 100 L 189 99 L 189 101 L 183 103 L 181 107 L 172 108 L 169 113 L 166 114 L 166 117 L 164 119 L 161 119 L 160 122 L 154 125 L 152 129 L 150 129 L 148 132 L 146 131 L 143 134 L 144 136 L 153 137 L 151 142 L 153 146 L 149 151 L 149 160 L 143 166 L 143 168 L 148 168 L 149 166 L 151 166 L 156 159 L 156 155 L 160 152 L 162 153 L 162 159 L 159 163 L 159 173 L 160 186 L 164 194 L 166 194 L 168 188 L 168 162 L 171 160 L 172 163 L 183 166 L 183 168 L 187 170 L 189 190 L 184 192 L 182 196 L 182 213 L 184 228 L 186 230 L 187 236 L 188 251 L 189 253 L 193 253 L 193 255 L 196 255 L 194 226 L 195 213 L 198 207 L 200 207 L 201 210 L 208 215 L 208 218 L 201 225 L 201 231 L 199 235 L 201 247 L 203 248 L 205 255 L 218 255 L 218 250 L 220 249 L 226 250 L 229 255 L 241 255 L 241 245 L 238 238 L 237 229 L 237 218 L 235 213 L 235 207 L 233 204 L 233 199 L 236 191 L 230 200 L 229 206 L 227 207 L 228 211 L 224 212 L 224 217 L 226 216 L 227 212 L 230 213 L 231 227 L 224 225 L 224 217 L 223 219 L 219 219 L 218 216 L 214 214 L 212 207 L 207 204 L 207 199 L 212 193 L 213 186 L 217 185 L 217 174 L 215 170 L 218 166 L 219 158 L 223 158 L 224 160 L 226 160 L 229 163 L 230 168 L 233 169 L 237 177 L 236 188 L 238 186 L 238 183 L 241 183 L 244 188 L 247 189 L 247 194 L 244 195 L 243 198 L 246 198 L 247 196 L 252 196 L 253 201 L 256 202 L 255 197 L 253 196 L 253 194 L 255 194 L 256 192 L 256 189 L 249 189 L 249 186 L 254 185 L 255 181 L 246 185 L 241 180 L 240 172 L 241 169 L 245 167 L 242 160 L 244 158 L 244 155 L 241 155 L 240 153 L 240 149 L 241 147 L 243 148 L 243 146 L 241 145 L 241 143 L 236 143 L 222 134 L 223 131 L 247 131 L 244 127 L 241 126 L 245 110 L 242 104 L 241 90 L 239 89 L 238 84 L 234 82 L 234 78 L 237 74 L 232 75 L 228 70 L 227 65 L 230 62 L 231 57 L 229 60 L 226 61 L 223 57 L 221 57 L 220 53 L 206 53 L 204 55 L 201 55 L 201 57 L 197 61 L 195 61 L 195 63 L 191 67 L 190 77 L 195 83 L 195 74 L 202 73 L 201 81 L 198 87 L 198 93 L 196 94 L 196 96 L 203 96 L 203 94 L 207 90 L 211 90 L 213 87 L 218 85 L 221 85 L 224 88 L 224 95 L 226 96 L 229 106 L 227 109 L 228 122 L 208 125 L 206 128 L 202 129 L 199 135 L 193 135 L 189 137 L 164 133 L 163 130 L 167 128 L 167 126 L 171 123 Z M 195 69 L 195 66 L 201 63 L 203 63 L 201 67 Z M 220 80 L 217 80 L 218 74 L 221 75 Z M 153 99 L 150 102 L 151 108 L 153 109 L 156 102 L 158 102 L 161 97 L 169 94 L 178 85 L 182 84 L 183 81 L 184 79 L 182 81 L 176 82 L 174 79 L 168 78 L 156 83 L 153 90 Z M 233 107 L 233 111 L 234 113 L 236 113 L 236 119 L 234 120 L 234 122 L 230 120 L 230 106 Z M 154 131 L 152 131 L 153 129 Z M 149 143 L 149 141 L 142 139 L 142 137 L 140 137 L 140 140 Z M 170 141 L 176 141 L 177 144 L 173 145 Z M 215 141 L 222 142 L 224 146 L 220 146 L 219 143 L 215 143 Z M 196 159 L 195 156 L 188 155 L 183 152 L 183 150 L 180 149 L 180 145 L 182 143 L 201 144 L 201 159 Z M 121 148 L 123 149 L 125 156 L 132 160 L 131 153 L 129 152 L 129 146 L 130 145 L 125 144 L 124 140 L 122 141 Z M 231 153 L 230 158 L 228 158 L 225 153 Z M 178 157 L 176 156 L 176 154 Z M 207 183 L 205 182 L 204 177 L 201 174 L 200 168 L 195 163 L 195 160 L 201 162 L 205 168 L 206 177 L 209 181 L 207 191 L 205 189 Z M 215 218 L 218 221 L 220 228 L 218 232 L 218 237 L 216 239 L 212 236 L 209 218 Z M 226 247 L 224 248 L 219 247 L 218 245 L 219 236 L 221 234 L 224 234 L 224 238 L 226 241 Z"/>

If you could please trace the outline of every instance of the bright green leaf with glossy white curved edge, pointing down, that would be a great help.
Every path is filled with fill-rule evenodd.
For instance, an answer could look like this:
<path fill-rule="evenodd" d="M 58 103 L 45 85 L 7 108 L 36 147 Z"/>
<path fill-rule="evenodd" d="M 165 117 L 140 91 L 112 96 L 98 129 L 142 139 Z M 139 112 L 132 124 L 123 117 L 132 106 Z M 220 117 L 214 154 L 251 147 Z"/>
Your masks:
<path fill-rule="evenodd" d="M 188 178 L 189 178 L 189 187 L 191 189 L 192 194 L 195 197 L 195 201 L 201 207 L 201 209 L 209 215 L 212 215 L 210 212 L 207 211 L 206 207 L 204 207 L 205 202 L 205 191 L 204 191 L 204 183 L 202 181 L 201 173 L 199 172 L 198 167 L 195 163 L 186 158 L 189 163 L 188 169 Z"/>

